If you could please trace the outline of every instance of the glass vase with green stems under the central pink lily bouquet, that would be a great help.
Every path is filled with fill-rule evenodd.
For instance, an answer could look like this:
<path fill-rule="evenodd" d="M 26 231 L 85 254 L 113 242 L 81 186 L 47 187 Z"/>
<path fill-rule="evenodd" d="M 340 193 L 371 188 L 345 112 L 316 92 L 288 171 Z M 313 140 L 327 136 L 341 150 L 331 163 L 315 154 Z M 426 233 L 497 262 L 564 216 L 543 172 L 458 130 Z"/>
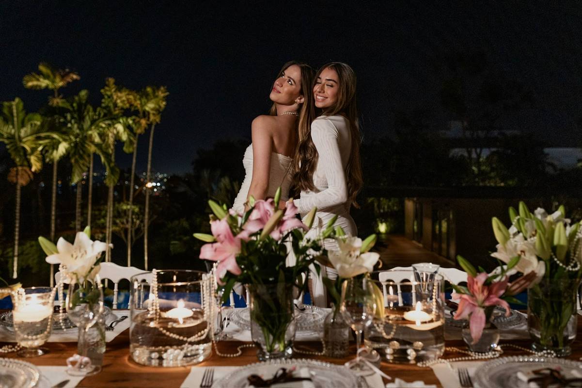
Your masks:
<path fill-rule="evenodd" d="M 293 355 L 293 284 L 250 284 L 251 337 L 260 361 Z"/>

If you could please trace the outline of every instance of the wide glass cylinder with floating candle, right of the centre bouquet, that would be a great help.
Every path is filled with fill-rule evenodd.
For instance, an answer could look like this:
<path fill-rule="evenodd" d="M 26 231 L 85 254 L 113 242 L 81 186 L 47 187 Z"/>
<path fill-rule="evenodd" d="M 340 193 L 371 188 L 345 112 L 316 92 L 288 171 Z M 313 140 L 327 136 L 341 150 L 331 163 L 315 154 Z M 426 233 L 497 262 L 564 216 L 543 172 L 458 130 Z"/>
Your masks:
<path fill-rule="evenodd" d="M 393 271 L 387 280 L 374 281 L 384 309 L 366 327 L 364 343 L 384 361 L 416 364 L 445 351 L 443 277 L 435 274 L 432 281 L 423 281 L 430 294 L 417 292 L 420 282 L 408 279 L 414 279 L 412 271 Z"/>

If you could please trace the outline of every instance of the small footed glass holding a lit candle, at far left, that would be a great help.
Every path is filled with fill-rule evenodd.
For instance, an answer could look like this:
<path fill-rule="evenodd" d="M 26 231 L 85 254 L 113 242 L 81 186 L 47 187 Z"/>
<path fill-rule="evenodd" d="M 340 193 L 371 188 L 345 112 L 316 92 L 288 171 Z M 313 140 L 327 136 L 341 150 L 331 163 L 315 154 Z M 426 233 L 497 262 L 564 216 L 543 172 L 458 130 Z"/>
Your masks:
<path fill-rule="evenodd" d="M 23 348 L 20 357 L 36 357 L 48 352 L 41 348 L 51 336 L 52 306 L 56 288 L 19 288 L 12 292 L 12 319 L 16 342 Z"/>

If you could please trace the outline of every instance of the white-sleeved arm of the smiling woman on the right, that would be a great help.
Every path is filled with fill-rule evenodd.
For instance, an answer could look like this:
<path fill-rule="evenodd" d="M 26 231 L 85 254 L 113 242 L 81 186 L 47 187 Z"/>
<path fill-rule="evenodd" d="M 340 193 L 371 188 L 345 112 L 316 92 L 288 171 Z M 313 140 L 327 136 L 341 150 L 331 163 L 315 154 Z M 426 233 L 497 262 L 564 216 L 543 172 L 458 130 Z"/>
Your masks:
<path fill-rule="evenodd" d="M 317 119 L 311 124 L 311 139 L 319 154 L 318 168 L 323 169 L 328 187 L 296 200 L 295 206 L 300 213 L 307 213 L 313 207 L 322 210 L 347 201 L 346 172 L 339 152 L 338 129 L 328 119 Z"/>

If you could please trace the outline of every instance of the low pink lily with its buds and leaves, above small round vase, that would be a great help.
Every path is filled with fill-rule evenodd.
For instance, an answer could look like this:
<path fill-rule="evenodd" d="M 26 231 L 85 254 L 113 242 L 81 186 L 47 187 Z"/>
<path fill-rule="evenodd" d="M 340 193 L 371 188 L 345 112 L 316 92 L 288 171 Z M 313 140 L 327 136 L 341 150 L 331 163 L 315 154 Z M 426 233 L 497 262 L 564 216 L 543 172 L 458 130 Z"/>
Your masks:
<path fill-rule="evenodd" d="M 477 273 L 475 267 L 462 256 L 457 256 L 457 260 L 467 272 L 467 287 L 452 284 L 455 290 L 452 298 L 460 299 L 455 319 L 469 318 L 471 338 L 473 344 L 476 344 L 491 320 L 495 306 L 505 308 L 506 316 L 509 316 L 511 310 L 508 302 L 520 303 L 514 295 L 525 290 L 535 280 L 535 273 L 531 271 L 509 284 L 508 271 L 520 262 L 519 256 L 510 260 L 506 266 L 496 268 L 491 274 L 481 267 Z"/>

